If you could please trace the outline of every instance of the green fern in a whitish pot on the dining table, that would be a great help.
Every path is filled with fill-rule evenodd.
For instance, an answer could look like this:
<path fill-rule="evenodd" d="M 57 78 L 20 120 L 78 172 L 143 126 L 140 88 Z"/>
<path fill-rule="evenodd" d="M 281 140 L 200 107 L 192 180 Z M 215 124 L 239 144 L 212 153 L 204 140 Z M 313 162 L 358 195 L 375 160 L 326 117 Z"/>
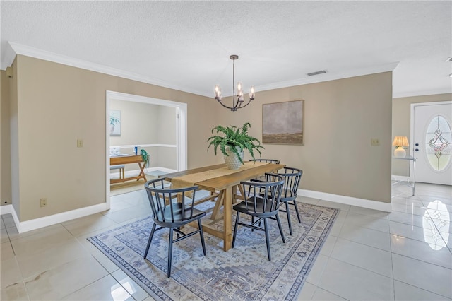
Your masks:
<path fill-rule="evenodd" d="M 259 148 L 264 148 L 261 146 L 261 141 L 249 136 L 248 129 L 250 127 L 251 124 L 249 122 L 244 123 L 240 128 L 237 126 L 215 126 L 212 129 L 212 134 L 214 134 L 214 131 L 216 133 L 207 139 L 207 142 L 210 141 L 207 151 L 210 146 L 213 146 L 213 151 L 216 155 L 217 149 L 220 148 L 221 153 L 225 156 L 227 167 L 231 170 L 238 170 L 240 166 L 244 165 L 244 150 L 249 151 L 251 157 L 255 159 L 254 151 L 262 155 Z"/>

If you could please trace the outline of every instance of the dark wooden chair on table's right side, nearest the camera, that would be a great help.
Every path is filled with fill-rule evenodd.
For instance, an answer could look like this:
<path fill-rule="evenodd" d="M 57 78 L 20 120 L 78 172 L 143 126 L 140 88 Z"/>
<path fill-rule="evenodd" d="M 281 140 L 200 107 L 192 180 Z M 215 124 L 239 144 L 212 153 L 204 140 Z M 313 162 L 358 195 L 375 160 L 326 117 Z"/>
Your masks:
<path fill-rule="evenodd" d="M 261 230 L 265 232 L 268 261 L 271 261 L 270 253 L 270 235 L 268 234 L 268 218 L 275 218 L 278 222 L 281 238 L 285 242 L 283 228 L 281 228 L 280 218 L 278 216 L 281 194 L 283 191 L 284 178 L 281 175 L 266 173 L 268 182 L 240 182 L 243 191 L 251 191 L 246 200 L 232 206 L 237 211 L 237 217 L 234 225 L 234 237 L 232 238 L 232 247 L 235 245 L 239 225 L 251 230 Z M 251 216 L 251 223 L 241 223 L 240 213 Z M 263 221 L 263 228 L 260 223 Z"/>

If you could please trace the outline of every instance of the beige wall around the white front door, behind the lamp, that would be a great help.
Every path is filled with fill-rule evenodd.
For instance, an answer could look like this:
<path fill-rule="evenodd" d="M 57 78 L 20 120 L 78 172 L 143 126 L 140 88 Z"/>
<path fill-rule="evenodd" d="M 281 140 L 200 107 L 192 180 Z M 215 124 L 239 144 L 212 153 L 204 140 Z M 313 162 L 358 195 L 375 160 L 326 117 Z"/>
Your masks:
<path fill-rule="evenodd" d="M 411 104 L 420 102 L 441 102 L 452 100 L 452 94 L 436 94 L 436 95 L 424 95 L 424 96 L 412 96 L 408 98 L 394 98 L 393 99 L 393 117 L 392 117 L 392 137 L 394 136 L 407 136 L 410 146 L 407 148 L 407 153 L 410 153 L 411 141 L 410 141 L 410 120 L 411 120 Z M 392 151 L 396 147 L 392 146 Z M 406 176 L 407 165 L 401 160 L 393 160 L 392 174 Z"/>

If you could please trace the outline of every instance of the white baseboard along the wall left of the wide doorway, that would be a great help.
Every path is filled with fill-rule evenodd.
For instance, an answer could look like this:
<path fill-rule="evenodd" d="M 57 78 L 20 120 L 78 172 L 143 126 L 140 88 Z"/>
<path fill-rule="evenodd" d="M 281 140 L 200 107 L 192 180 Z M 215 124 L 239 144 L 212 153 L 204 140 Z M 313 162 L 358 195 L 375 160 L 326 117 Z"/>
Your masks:
<path fill-rule="evenodd" d="M 43 218 L 35 218 L 34 220 L 25 220 L 25 222 L 20 222 L 13 205 L 1 206 L 0 214 L 4 215 L 11 213 L 18 232 L 23 233 L 47 227 L 49 225 L 55 225 L 57 223 L 64 223 L 75 218 L 83 218 L 83 216 L 90 216 L 91 214 L 106 211 L 107 209 L 109 209 L 107 208 L 107 203 L 100 203 L 89 207 L 57 213 L 52 216 L 44 216 Z"/>

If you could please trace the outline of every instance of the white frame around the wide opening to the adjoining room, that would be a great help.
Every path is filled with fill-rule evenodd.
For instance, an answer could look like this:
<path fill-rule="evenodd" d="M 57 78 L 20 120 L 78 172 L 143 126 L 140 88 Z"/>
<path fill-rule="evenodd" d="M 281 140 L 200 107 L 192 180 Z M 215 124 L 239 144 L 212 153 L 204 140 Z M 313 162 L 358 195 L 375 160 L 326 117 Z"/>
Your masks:
<path fill-rule="evenodd" d="M 187 169 L 187 104 L 185 102 L 174 102 L 172 100 L 162 100 L 159 98 L 149 98 L 141 95 L 121 93 L 107 90 L 105 92 L 105 196 L 107 208 L 110 208 L 110 180 L 109 175 L 109 108 L 111 100 L 126 100 L 131 102 L 143 102 L 149 105 L 162 105 L 176 108 L 176 168 L 177 171 Z"/>

